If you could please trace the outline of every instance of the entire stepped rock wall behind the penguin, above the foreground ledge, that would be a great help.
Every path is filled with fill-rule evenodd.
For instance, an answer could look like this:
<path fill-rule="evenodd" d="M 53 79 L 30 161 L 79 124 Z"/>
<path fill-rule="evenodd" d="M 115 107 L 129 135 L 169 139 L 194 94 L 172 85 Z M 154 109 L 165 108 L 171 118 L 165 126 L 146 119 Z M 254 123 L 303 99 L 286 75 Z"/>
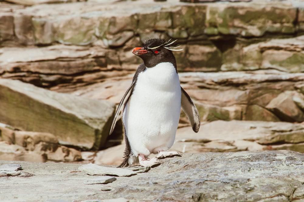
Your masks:
<path fill-rule="evenodd" d="M 304 153 L 303 0 L 0 0 L 0 160 L 119 164 L 115 111 L 147 38 L 178 39 L 172 150 Z"/>

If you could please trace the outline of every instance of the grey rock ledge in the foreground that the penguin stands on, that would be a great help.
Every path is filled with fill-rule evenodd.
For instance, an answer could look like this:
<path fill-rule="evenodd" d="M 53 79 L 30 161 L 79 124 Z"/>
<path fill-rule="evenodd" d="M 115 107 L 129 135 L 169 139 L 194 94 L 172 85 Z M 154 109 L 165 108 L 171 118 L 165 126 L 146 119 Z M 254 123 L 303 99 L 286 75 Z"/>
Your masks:
<path fill-rule="evenodd" d="M 117 180 L 108 184 L 85 183 L 88 180 L 94 181 L 97 176 L 79 171 L 78 167 L 81 164 L 0 161 L 0 166 L 20 164 L 23 168 L 19 175 L 2 177 L 0 200 L 302 201 L 304 199 L 304 154 L 298 152 L 282 150 L 188 153 L 160 161 L 160 166 L 146 169 L 147 172 L 130 177 L 116 177 Z M 16 194 L 12 195 L 12 190 L 15 190 Z"/>

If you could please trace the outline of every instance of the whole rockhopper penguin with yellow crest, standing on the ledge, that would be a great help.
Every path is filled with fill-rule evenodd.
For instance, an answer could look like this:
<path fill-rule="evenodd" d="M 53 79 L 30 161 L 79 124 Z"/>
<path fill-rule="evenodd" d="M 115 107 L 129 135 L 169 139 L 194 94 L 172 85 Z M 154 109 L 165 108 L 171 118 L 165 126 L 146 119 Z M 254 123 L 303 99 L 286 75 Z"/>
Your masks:
<path fill-rule="evenodd" d="M 121 99 L 110 129 L 112 134 L 123 109 L 125 135 L 124 160 L 118 167 L 139 163 L 159 164 L 158 158 L 178 155 L 168 152 L 175 140 L 181 108 L 195 133 L 199 131 L 199 112 L 190 96 L 181 87 L 176 60 L 172 51 L 182 51 L 176 40 L 152 38 L 132 53 L 143 60 L 132 84 Z M 156 157 L 149 159 L 153 153 Z"/>

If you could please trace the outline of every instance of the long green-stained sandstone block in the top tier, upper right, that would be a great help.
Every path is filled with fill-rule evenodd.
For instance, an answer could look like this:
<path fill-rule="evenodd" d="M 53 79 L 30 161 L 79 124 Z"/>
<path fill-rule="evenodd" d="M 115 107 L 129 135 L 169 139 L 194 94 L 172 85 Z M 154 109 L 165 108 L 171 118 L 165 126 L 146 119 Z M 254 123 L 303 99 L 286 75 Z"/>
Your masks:
<path fill-rule="evenodd" d="M 238 34 L 247 37 L 260 37 L 265 32 L 277 31 L 290 34 L 295 32 L 292 24 L 295 17 L 296 10 L 287 5 L 279 8 L 269 5 L 215 4 L 210 5 L 207 10 L 206 26 L 215 27 L 222 34 Z M 254 24 L 250 25 L 250 22 Z"/>

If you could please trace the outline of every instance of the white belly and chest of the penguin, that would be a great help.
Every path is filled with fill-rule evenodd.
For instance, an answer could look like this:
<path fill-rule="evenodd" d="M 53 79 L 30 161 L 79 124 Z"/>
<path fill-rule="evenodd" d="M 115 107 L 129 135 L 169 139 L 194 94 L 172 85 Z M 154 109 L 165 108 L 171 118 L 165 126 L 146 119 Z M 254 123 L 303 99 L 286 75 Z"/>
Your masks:
<path fill-rule="evenodd" d="M 170 148 L 180 110 L 181 87 L 171 63 L 160 63 L 141 72 L 123 113 L 133 154 L 149 155 L 155 148 Z"/>

